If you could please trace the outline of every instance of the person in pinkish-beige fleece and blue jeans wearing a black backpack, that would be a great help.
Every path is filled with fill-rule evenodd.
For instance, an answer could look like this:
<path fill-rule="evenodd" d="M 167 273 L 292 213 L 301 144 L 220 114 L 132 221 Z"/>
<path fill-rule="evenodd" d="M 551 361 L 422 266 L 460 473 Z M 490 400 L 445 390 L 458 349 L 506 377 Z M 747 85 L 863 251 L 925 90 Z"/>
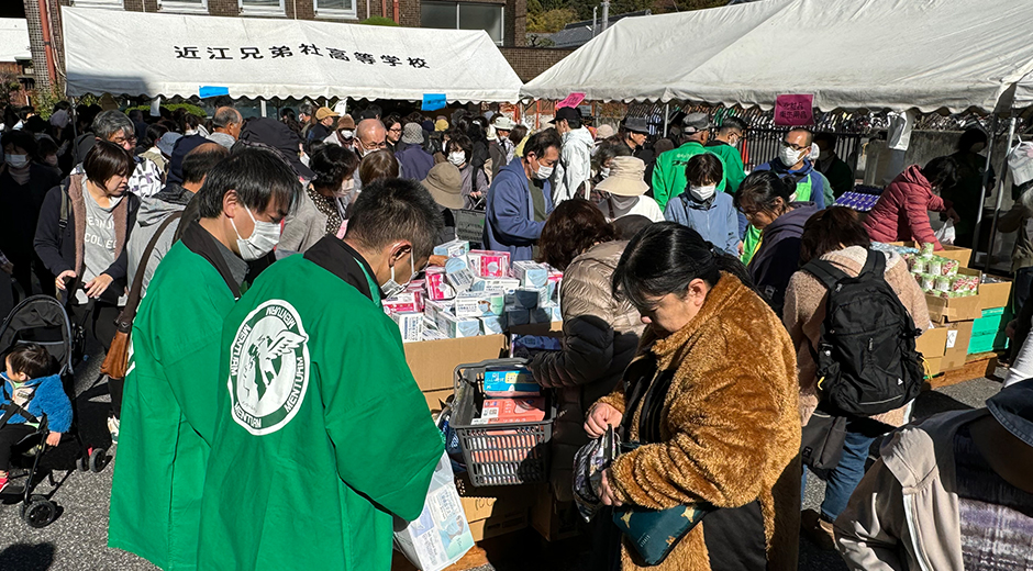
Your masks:
<path fill-rule="evenodd" d="M 907 261 L 897 254 L 869 250 L 869 245 L 868 234 L 857 220 L 857 214 L 843 206 L 833 206 L 814 214 L 803 225 L 800 265 L 820 258 L 853 278 L 860 273 L 869 256 L 884 256 L 886 282 L 892 288 L 914 325 L 922 331 L 928 329 L 930 321 L 925 294 L 908 270 Z M 827 299 L 829 290 L 810 272 L 801 270 L 789 279 L 782 321 L 797 351 L 800 421 L 803 426 L 807 426 L 814 411 L 821 407 L 814 356 L 820 350 L 819 342 Z M 802 515 L 802 529 L 817 546 L 827 550 L 835 549 L 832 523 L 846 508 L 846 502 L 865 474 L 868 449 L 875 439 L 890 427 L 898 427 L 907 422 L 907 406 L 908 404 L 904 404 L 900 408 L 871 417 L 847 417 L 843 456 L 838 464 L 822 478 L 825 481 L 825 492 L 820 512 L 808 510 Z"/>

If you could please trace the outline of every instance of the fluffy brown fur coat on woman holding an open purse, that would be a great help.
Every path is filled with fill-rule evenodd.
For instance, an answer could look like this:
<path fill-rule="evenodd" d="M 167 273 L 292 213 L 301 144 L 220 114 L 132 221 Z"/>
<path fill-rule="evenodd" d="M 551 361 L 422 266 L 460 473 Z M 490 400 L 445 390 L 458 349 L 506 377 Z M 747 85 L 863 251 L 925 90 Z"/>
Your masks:
<path fill-rule="evenodd" d="M 625 504 L 669 508 L 695 502 L 738 507 L 759 501 L 768 569 L 795 571 L 800 522 L 800 421 L 796 356 L 768 305 L 722 273 L 699 314 L 681 331 L 649 342 L 674 380 L 660 416 L 664 441 L 621 456 L 611 469 Z M 642 357 L 640 357 L 641 359 Z M 624 411 L 617 391 L 600 402 Z M 640 411 L 630 438 L 636 440 Z M 654 569 L 709 571 L 707 519 Z M 623 549 L 623 569 L 638 569 Z"/>

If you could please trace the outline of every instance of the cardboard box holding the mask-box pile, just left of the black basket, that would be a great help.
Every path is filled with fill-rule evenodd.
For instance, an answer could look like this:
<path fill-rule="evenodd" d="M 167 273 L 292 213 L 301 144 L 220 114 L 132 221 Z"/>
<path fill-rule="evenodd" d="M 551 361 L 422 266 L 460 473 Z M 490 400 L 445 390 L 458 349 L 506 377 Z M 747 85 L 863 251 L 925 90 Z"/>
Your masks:
<path fill-rule="evenodd" d="M 404 349 L 406 362 L 421 391 L 452 390 L 456 366 L 498 359 L 503 356 L 506 336 L 407 343 Z"/>

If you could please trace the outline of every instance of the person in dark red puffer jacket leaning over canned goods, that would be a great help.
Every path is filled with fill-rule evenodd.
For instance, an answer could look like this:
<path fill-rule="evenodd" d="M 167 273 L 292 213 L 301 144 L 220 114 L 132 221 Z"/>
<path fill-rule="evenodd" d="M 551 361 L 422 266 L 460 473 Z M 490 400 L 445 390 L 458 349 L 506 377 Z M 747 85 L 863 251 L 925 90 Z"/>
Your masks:
<path fill-rule="evenodd" d="M 936 239 L 929 211 L 943 212 L 958 221 L 953 204 L 941 192 L 957 181 L 957 163 L 953 157 L 937 157 L 925 168 L 911 165 L 886 187 L 865 219 L 865 228 L 873 242 L 914 240 L 943 246 Z"/>

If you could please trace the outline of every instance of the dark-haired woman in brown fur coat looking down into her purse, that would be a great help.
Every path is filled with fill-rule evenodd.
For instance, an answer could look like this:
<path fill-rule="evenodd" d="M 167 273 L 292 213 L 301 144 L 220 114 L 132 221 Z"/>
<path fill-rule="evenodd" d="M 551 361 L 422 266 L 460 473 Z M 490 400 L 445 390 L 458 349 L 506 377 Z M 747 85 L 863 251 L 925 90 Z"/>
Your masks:
<path fill-rule="evenodd" d="M 630 414 L 625 440 L 641 444 L 604 473 L 603 503 L 718 508 L 656 569 L 796 570 L 799 389 L 778 317 L 738 260 L 675 223 L 631 240 L 613 287 L 647 326 L 624 390 L 585 426 L 598 436 Z M 625 570 L 643 564 L 626 537 L 621 558 Z"/>

